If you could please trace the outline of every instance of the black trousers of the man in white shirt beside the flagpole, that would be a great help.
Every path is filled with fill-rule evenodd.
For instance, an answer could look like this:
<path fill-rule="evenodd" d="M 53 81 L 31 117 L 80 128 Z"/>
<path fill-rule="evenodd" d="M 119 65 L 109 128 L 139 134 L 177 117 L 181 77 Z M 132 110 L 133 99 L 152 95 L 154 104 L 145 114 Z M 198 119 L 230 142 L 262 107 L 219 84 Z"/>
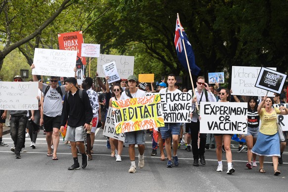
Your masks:
<path fill-rule="evenodd" d="M 206 144 L 206 134 L 200 134 L 200 144 L 198 149 L 198 133 L 200 130 L 200 123 L 199 120 L 197 122 L 187 123 L 191 130 L 191 145 L 192 145 L 192 152 L 193 158 L 199 159 L 199 155 L 204 155 L 205 153 L 205 144 Z"/>

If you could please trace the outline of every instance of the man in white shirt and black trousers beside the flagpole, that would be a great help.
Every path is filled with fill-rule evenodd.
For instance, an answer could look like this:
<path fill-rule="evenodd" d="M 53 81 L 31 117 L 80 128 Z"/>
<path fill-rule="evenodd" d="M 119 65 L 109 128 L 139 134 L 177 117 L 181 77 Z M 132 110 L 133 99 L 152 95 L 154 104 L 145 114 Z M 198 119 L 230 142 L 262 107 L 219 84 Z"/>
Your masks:
<path fill-rule="evenodd" d="M 200 107 L 201 102 L 216 102 L 216 98 L 214 93 L 209 90 L 208 84 L 205 83 L 205 78 L 203 76 L 199 76 L 196 81 L 197 87 L 195 88 L 195 96 L 197 98 L 197 104 Z M 195 99 L 193 99 L 195 100 Z M 195 102 L 194 102 L 195 103 Z M 192 104 L 193 105 L 193 104 Z M 192 106 L 193 108 L 193 106 Z M 202 165 L 206 164 L 204 153 L 205 153 L 205 145 L 206 145 L 206 134 L 201 133 L 199 136 L 200 144 L 198 148 L 198 134 L 200 130 L 199 123 L 199 113 L 197 113 L 196 106 L 194 107 L 193 116 L 191 123 L 187 123 L 186 128 L 191 130 L 191 145 L 193 152 L 193 166 L 199 166 L 199 158 L 200 163 Z"/>

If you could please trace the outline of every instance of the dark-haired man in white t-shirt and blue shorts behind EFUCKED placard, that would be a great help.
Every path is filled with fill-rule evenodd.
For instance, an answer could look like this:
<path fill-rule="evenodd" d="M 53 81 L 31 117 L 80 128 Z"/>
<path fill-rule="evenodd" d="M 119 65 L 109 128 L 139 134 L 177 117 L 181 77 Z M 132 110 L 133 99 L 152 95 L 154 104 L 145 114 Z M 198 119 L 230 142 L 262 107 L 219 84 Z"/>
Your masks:
<path fill-rule="evenodd" d="M 167 78 L 168 88 L 161 89 L 159 94 L 165 94 L 165 93 L 182 93 L 180 90 L 176 89 L 175 83 L 176 83 L 176 75 L 169 74 Z M 178 138 L 180 135 L 180 123 L 165 123 L 164 127 L 160 127 L 160 133 L 162 139 L 165 139 L 165 150 L 167 152 L 167 166 L 171 168 L 172 167 L 172 153 L 171 153 L 171 134 L 172 134 L 172 140 L 173 140 L 173 160 L 174 165 L 179 165 L 179 160 L 177 156 L 177 147 L 178 147 Z"/>

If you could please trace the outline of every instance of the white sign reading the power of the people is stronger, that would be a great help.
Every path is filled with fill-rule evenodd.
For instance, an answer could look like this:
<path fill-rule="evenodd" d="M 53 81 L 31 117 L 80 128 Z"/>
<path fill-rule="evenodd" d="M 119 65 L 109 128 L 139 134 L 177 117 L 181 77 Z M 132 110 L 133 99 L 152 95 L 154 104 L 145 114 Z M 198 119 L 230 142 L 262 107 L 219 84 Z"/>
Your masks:
<path fill-rule="evenodd" d="M 76 50 L 35 48 L 32 75 L 74 77 Z"/>

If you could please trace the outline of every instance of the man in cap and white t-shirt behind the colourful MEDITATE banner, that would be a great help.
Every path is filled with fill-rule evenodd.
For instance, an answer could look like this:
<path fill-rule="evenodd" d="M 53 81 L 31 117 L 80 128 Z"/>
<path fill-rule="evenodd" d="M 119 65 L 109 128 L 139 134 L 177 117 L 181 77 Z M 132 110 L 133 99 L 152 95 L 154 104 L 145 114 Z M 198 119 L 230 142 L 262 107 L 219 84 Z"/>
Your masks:
<path fill-rule="evenodd" d="M 128 77 L 128 87 L 125 92 L 121 94 L 120 99 L 127 99 L 127 98 L 136 98 L 145 96 L 145 92 L 136 88 L 138 84 L 138 79 L 134 75 L 130 75 Z M 129 157 L 131 161 L 131 166 L 129 169 L 129 173 L 136 172 L 136 165 L 135 165 L 135 144 L 138 144 L 138 166 L 140 169 L 144 167 L 144 149 L 145 149 L 145 132 L 146 130 L 140 131 L 133 131 L 125 133 L 125 144 L 129 144 Z"/>

